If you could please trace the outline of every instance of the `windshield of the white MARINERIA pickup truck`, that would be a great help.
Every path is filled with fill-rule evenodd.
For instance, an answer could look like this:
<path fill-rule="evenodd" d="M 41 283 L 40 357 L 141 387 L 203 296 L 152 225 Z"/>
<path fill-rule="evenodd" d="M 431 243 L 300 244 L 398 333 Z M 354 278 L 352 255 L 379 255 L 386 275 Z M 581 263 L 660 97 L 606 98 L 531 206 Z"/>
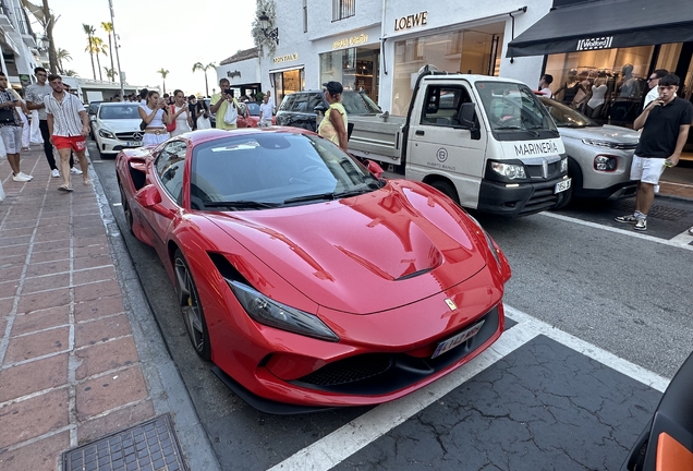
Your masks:
<path fill-rule="evenodd" d="M 558 133 L 546 107 L 526 85 L 476 82 L 476 90 L 494 133 L 526 131 L 536 136 L 542 131 Z"/>

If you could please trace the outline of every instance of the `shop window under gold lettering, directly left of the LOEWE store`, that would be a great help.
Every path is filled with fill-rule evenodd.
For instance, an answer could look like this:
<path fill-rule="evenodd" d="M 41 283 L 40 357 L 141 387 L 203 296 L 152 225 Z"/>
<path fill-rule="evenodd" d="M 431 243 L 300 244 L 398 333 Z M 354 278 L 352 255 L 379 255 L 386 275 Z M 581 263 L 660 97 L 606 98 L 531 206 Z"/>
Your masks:
<path fill-rule="evenodd" d="M 337 81 L 344 89 L 364 92 L 378 101 L 380 41 L 377 31 L 331 38 L 329 50 L 319 55 L 319 64 L 320 84 Z"/>

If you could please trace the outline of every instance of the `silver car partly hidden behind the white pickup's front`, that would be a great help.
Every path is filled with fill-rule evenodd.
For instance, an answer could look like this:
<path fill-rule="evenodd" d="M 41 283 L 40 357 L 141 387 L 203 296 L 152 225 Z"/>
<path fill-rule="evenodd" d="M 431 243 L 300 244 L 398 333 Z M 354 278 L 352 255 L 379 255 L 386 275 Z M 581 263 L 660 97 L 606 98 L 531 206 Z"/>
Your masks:
<path fill-rule="evenodd" d="M 556 121 L 566 144 L 568 176 L 572 178 L 571 197 L 606 200 L 635 194 L 636 182 L 630 179 L 630 172 L 639 133 L 599 124 L 550 98 L 539 99 Z M 561 206 L 569 201 L 566 198 Z"/>

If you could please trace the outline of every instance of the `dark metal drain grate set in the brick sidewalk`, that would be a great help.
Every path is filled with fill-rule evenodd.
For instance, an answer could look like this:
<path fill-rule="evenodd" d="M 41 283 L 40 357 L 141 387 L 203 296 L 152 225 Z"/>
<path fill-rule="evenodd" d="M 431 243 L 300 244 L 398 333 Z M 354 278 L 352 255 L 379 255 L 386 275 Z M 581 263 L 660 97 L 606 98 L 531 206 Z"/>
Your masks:
<path fill-rule="evenodd" d="M 187 471 L 167 413 L 64 451 L 63 471 Z"/>

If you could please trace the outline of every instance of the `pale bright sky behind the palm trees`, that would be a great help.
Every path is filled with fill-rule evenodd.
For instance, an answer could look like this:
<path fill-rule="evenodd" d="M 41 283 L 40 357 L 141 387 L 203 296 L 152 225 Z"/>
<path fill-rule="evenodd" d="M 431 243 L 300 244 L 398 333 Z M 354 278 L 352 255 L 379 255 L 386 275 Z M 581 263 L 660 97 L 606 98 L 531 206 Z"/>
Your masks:
<path fill-rule="evenodd" d="M 163 68 L 169 71 L 167 92 L 180 88 L 185 95 L 204 94 L 204 73 L 192 72 L 195 62 L 218 64 L 240 49 L 254 47 L 253 0 L 112 1 L 121 70 L 131 85 L 162 86 L 156 71 Z M 41 0 L 33 3 L 41 4 Z M 108 0 L 48 0 L 48 3 L 53 14 L 60 16 L 53 29 L 56 48 L 72 56 L 72 61 L 63 63 L 64 68 L 75 70 L 81 77 L 94 78 L 89 53 L 84 50 L 87 36 L 82 24 L 94 26 L 96 35 L 108 44 L 108 35 L 101 28 L 101 22 L 110 22 Z M 37 23 L 32 26 L 40 36 L 40 26 Z M 102 72 L 105 65 L 110 68 L 110 57 L 100 56 L 100 61 Z M 118 69 L 114 57 L 113 64 Z M 211 93 L 212 87 L 218 88 L 217 75 L 209 70 L 207 76 Z M 105 73 L 104 80 L 108 80 Z"/>

